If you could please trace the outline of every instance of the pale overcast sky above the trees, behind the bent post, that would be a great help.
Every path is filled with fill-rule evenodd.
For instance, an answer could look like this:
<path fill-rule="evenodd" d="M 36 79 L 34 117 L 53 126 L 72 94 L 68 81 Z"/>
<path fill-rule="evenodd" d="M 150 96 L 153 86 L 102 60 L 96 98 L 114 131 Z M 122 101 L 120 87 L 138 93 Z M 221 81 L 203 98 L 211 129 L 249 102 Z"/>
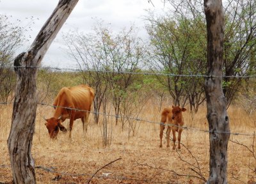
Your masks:
<path fill-rule="evenodd" d="M 143 25 L 143 16 L 147 15 L 145 10 L 150 9 L 158 14 L 168 11 L 166 4 L 164 6 L 161 0 L 152 0 L 152 3 L 154 6 L 148 3 L 148 0 L 80 0 L 45 54 L 42 65 L 60 68 L 75 67 L 77 63 L 70 61 L 65 52 L 60 49 L 61 32 L 67 33 L 72 29 L 79 29 L 84 33 L 91 31 L 95 23 L 92 18 L 103 20 L 106 24 L 110 23 L 113 31 L 120 31 L 134 24 L 139 27 L 140 35 L 145 34 Z M 22 24 L 28 24 L 26 17 L 35 19 L 35 24 L 31 25 L 32 31 L 28 32 L 31 39 L 28 45 L 24 45 L 25 49 L 31 45 L 57 4 L 58 0 L 0 0 L 0 14 L 12 15 L 12 20 L 20 19 Z"/>

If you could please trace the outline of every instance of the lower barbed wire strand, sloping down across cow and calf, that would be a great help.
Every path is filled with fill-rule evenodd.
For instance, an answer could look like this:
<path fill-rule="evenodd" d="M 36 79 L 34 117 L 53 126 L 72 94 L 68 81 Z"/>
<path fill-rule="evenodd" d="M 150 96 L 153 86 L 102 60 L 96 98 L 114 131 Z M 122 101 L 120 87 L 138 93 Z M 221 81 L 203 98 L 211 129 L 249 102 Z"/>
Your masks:
<path fill-rule="evenodd" d="M 0 102 L 0 104 L 10 104 L 13 102 Z M 152 123 L 152 124 L 157 124 L 157 125 L 163 125 L 166 127 L 177 127 L 179 128 L 179 125 L 175 125 L 175 124 L 167 124 L 167 123 L 159 123 L 156 121 L 149 121 L 146 119 L 141 119 L 141 118 L 134 118 L 134 117 L 124 117 L 124 116 L 116 116 L 113 114 L 105 114 L 102 112 L 95 112 L 95 111 L 86 111 L 86 110 L 81 110 L 81 109 L 76 109 L 76 108 L 71 108 L 71 107 L 63 107 L 63 106 L 58 106 L 58 105 L 49 105 L 49 104 L 45 104 L 45 103 L 39 103 L 37 102 L 36 104 L 38 105 L 45 105 L 45 106 L 49 106 L 49 107 L 54 107 L 54 108 L 63 108 L 63 109 L 68 109 L 68 110 L 72 110 L 72 111 L 82 111 L 82 112 L 90 112 L 92 114 L 100 114 L 103 116 L 110 116 L 110 117 L 114 117 L 114 118 L 120 118 L 120 119 L 131 119 L 131 120 L 135 120 L 135 121 L 143 121 L 146 123 Z M 194 128 L 194 127 L 182 127 L 182 129 L 184 130 L 194 130 L 194 131 L 198 131 L 198 132 L 205 132 L 205 133 L 210 133 L 210 134 L 230 134 L 230 135 L 244 135 L 244 136 L 254 136 L 254 134 L 249 134 L 249 133 L 238 133 L 238 132 L 223 132 L 223 131 L 216 131 L 216 130 L 203 130 L 200 128 Z"/>

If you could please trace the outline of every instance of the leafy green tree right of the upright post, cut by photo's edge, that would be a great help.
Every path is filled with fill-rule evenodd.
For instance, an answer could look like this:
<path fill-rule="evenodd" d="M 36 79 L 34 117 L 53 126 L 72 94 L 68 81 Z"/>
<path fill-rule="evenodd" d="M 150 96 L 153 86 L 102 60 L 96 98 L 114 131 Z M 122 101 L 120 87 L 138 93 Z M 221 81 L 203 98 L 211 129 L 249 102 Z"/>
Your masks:
<path fill-rule="evenodd" d="M 251 75 L 256 70 L 256 1 L 227 1 L 225 8 L 225 37 L 223 75 Z M 241 88 L 244 79 L 225 77 L 223 92 L 228 105 Z"/>

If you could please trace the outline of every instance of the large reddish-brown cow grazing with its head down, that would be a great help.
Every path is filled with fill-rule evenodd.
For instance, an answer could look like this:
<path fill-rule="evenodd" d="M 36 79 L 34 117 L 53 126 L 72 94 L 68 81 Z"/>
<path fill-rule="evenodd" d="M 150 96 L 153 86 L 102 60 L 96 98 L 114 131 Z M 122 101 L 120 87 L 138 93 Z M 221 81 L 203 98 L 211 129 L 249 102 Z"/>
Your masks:
<path fill-rule="evenodd" d="M 88 118 L 94 98 L 94 91 L 92 88 L 86 85 L 74 86 L 70 88 L 61 88 L 60 92 L 54 100 L 54 115 L 52 118 L 45 119 L 47 121 L 45 126 L 48 129 L 51 138 L 56 138 L 59 132 L 59 128 L 63 132 L 67 132 L 67 129 L 61 124 L 65 119 L 70 119 L 69 121 L 69 137 L 71 138 L 71 131 L 73 127 L 74 120 L 81 118 L 83 122 L 83 132 L 84 123 L 85 130 L 87 132 Z M 68 107 L 66 109 L 63 107 Z M 78 111 L 83 110 L 83 111 Z"/>

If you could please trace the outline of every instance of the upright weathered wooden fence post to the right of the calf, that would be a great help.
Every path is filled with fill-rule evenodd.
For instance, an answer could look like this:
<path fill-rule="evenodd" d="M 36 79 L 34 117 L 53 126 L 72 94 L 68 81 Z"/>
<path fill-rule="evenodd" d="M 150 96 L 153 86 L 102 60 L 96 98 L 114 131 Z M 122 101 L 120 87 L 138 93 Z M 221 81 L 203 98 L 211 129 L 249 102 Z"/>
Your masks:
<path fill-rule="evenodd" d="M 227 147 L 230 132 L 223 94 L 221 68 L 223 62 L 224 15 L 221 0 L 205 0 L 207 21 L 207 65 L 205 79 L 207 119 L 210 130 L 210 173 L 207 183 L 227 183 Z"/>

